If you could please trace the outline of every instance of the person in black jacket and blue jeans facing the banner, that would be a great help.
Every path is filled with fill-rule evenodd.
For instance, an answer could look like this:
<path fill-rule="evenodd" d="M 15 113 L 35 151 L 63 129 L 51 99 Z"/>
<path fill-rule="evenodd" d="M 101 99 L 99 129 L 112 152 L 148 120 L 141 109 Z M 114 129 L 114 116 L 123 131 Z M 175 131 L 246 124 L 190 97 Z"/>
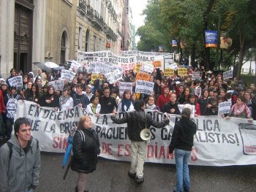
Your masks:
<path fill-rule="evenodd" d="M 169 153 L 175 149 L 176 162 L 176 191 L 189 191 L 189 161 L 192 150 L 194 134 L 197 132 L 195 122 L 190 120 L 191 110 L 185 108 L 181 112 L 181 120 L 175 123 L 172 140 L 169 145 Z"/>

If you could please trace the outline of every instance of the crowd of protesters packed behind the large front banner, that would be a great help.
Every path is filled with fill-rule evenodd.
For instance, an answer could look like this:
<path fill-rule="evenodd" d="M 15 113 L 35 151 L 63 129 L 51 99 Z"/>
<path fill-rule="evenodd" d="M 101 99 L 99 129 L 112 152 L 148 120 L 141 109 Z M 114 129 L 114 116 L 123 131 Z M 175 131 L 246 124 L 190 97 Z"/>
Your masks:
<path fill-rule="evenodd" d="M 59 80 L 61 70 L 46 74 L 38 70 L 37 74 L 23 74 L 15 69 L 10 70 L 10 77 L 3 78 L 0 88 L 0 139 L 10 138 L 14 113 L 18 100 L 28 100 L 37 103 L 38 107 L 53 107 L 54 110 L 68 110 L 74 106 L 82 107 L 87 113 L 96 115 L 113 112 L 129 112 L 135 109 L 135 101 L 143 99 L 146 108 L 170 114 L 178 114 L 178 104 L 195 105 L 195 116 L 218 115 L 218 104 L 231 101 L 230 114 L 225 118 L 238 117 L 256 119 L 256 88 L 255 84 L 246 85 L 242 80 L 233 77 L 223 80 L 222 74 L 206 72 L 203 67 L 195 69 L 200 72 L 200 79 L 192 80 L 192 68 L 187 76 L 165 77 L 159 69 L 154 69 L 150 80 L 154 82 L 154 91 L 149 96 L 135 93 L 136 74 L 132 70 L 123 73 L 124 82 L 134 82 L 132 91 L 119 94 L 119 83 L 108 83 L 102 78 L 92 82 L 91 74 L 86 70 L 78 71 L 72 82 L 65 81 L 63 90 L 54 90 L 48 82 Z M 21 75 L 23 87 L 10 86 L 10 78 Z"/>

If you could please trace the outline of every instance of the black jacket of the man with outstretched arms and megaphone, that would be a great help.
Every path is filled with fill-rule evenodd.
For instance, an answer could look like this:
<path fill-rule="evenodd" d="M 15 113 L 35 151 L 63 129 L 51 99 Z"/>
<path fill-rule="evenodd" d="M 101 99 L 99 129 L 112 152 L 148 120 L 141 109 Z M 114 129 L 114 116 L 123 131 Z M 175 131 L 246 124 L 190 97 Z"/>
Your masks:
<path fill-rule="evenodd" d="M 143 139 L 140 138 L 140 131 L 144 128 L 150 128 L 150 126 L 162 128 L 167 126 L 170 122 L 170 120 L 156 122 L 151 115 L 145 113 L 143 110 L 127 112 L 125 113 L 124 118 L 121 119 L 111 116 L 111 120 L 117 124 L 127 123 L 128 137 L 134 142 L 143 141 Z"/>

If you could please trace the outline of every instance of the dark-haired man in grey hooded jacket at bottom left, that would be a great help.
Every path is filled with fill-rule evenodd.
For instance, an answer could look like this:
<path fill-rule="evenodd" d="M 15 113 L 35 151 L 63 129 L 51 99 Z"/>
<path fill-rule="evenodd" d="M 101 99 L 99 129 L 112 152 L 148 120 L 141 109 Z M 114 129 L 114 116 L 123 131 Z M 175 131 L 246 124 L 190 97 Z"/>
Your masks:
<path fill-rule="evenodd" d="M 39 185 L 40 151 L 27 118 L 14 123 L 15 134 L 0 148 L 0 191 L 32 192 Z"/>

